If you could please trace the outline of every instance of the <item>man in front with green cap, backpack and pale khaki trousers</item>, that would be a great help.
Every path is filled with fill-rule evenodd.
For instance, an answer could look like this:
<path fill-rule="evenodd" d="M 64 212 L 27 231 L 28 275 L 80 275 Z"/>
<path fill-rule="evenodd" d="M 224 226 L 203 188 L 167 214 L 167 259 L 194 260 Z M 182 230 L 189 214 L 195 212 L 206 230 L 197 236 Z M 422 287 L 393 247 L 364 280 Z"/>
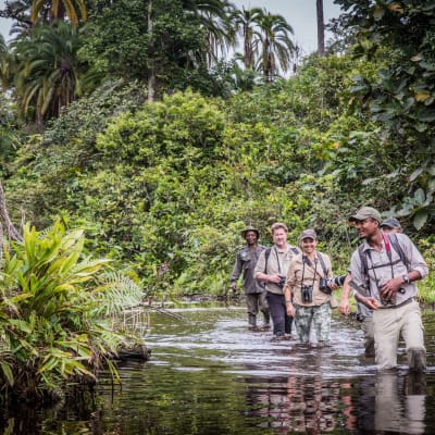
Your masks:
<path fill-rule="evenodd" d="M 415 300 L 415 281 L 427 275 L 428 269 L 414 244 L 405 234 L 397 240 L 406 256 L 407 264 L 389 238 L 381 231 L 381 214 L 372 207 L 363 207 L 349 217 L 358 236 L 365 239 L 350 261 L 350 284 L 358 291 L 358 299 L 373 309 L 375 361 L 380 370 L 397 366 L 399 336 L 403 337 L 409 369 L 426 369 L 423 322 Z M 366 271 L 361 256 L 366 258 Z"/>

